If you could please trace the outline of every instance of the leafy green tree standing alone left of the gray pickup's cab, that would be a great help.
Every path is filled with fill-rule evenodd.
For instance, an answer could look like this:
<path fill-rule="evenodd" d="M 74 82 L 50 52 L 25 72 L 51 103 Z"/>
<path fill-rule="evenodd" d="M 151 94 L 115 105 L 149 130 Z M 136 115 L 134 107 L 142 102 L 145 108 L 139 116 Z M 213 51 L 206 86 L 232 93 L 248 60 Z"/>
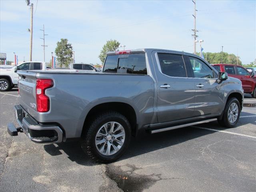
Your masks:
<path fill-rule="evenodd" d="M 68 67 L 68 64 L 72 62 L 72 45 L 68 43 L 68 39 L 60 39 L 60 42 L 57 42 L 57 47 L 55 49 L 55 54 L 57 56 L 57 61 L 60 64 L 60 67 L 64 65 Z"/>

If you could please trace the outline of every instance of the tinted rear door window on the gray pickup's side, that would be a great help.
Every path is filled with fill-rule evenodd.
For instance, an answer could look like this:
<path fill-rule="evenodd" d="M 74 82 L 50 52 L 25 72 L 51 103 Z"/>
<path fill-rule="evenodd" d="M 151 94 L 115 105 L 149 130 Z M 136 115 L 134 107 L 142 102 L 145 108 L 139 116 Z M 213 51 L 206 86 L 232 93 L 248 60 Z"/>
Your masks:
<path fill-rule="evenodd" d="M 181 55 L 158 53 L 163 74 L 171 77 L 186 77 L 185 64 Z"/>

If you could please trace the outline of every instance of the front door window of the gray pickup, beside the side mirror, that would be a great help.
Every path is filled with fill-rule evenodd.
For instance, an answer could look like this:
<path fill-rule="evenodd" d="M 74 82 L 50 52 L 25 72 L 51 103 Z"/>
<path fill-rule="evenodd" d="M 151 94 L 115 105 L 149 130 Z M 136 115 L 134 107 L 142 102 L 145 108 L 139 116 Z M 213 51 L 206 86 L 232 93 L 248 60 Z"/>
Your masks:
<path fill-rule="evenodd" d="M 213 71 L 207 64 L 194 57 L 189 57 L 189 60 L 192 65 L 195 78 L 214 78 Z"/>

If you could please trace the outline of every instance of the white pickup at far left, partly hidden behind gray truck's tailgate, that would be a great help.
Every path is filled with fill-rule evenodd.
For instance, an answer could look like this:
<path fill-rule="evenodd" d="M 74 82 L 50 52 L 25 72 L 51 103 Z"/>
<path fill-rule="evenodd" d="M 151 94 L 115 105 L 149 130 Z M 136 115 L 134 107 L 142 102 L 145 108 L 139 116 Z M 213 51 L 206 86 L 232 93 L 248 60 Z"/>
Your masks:
<path fill-rule="evenodd" d="M 0 68 L 0 91 L 7 91 L 18 84 L 17 70 L 46 70 L 45 62 L 23 62 L 12 68 Z"/>

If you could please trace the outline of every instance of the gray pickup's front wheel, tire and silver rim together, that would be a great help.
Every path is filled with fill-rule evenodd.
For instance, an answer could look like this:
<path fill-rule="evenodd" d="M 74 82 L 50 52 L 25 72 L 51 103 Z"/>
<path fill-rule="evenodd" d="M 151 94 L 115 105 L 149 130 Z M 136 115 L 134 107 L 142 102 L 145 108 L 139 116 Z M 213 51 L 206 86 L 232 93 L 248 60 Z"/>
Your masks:
<path fill-rule="evenodd" d="M 227 128 L 236 126 L 240 117 L 240 109 L 240 103 L 237 98 L 230 98 L 225 106 L 222 119 L 218 119 L 219 124 Z"/>

